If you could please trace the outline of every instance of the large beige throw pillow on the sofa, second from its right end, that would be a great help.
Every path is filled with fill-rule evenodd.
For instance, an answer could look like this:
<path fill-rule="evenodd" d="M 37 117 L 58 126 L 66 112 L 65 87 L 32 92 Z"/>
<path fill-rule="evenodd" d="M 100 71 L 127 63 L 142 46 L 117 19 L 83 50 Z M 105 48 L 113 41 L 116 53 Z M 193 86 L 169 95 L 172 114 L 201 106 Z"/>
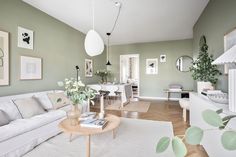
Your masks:
<path fill-rule="evenodd" d="M 22 118 L 30 118 L 35 115 L 43 114 L 46 111 L 42 105 L 33 97 L 13 100 L 16 104 Z"/>

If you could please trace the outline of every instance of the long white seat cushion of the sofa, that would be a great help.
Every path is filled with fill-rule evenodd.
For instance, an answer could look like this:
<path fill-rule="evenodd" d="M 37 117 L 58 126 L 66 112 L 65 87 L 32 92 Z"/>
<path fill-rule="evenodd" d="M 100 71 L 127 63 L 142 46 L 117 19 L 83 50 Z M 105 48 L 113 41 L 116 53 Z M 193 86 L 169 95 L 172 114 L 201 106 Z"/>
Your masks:
<path fill-rule="evenodd" d="M 45 114 L 37 115 L 29 119 L 17 119 L 4 125 L 0 129 L 0 143 L 23 133 L 32 131 L 56 120 L 66 117 L 66 112 L 53 110 Z"/>

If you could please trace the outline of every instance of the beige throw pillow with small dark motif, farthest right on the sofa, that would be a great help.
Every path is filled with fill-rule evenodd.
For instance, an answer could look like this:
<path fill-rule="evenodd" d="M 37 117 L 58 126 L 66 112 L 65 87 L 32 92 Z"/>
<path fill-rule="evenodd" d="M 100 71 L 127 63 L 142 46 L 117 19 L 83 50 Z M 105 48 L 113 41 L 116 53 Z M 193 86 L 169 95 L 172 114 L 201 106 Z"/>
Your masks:
<path fill-rule="evenodd" d="M 48 98 L 50 99 L 54 109 L 59 109 L 71 104 L 70 100 L 64 93 L 48 93 Z"/>

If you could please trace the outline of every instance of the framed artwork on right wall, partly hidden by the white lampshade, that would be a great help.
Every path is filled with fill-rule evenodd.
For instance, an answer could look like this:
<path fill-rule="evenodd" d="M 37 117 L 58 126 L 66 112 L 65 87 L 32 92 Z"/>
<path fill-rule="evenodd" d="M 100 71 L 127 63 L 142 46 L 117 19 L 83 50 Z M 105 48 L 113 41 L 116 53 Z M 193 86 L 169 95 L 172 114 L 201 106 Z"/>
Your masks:
<path fill-rule="evenodd" d="M 236 44 L 236 28 L 228 32 L 224 36 L 224 52 Z M 229 65 L 225 65 L 224 73 L 228 74 Z"/>

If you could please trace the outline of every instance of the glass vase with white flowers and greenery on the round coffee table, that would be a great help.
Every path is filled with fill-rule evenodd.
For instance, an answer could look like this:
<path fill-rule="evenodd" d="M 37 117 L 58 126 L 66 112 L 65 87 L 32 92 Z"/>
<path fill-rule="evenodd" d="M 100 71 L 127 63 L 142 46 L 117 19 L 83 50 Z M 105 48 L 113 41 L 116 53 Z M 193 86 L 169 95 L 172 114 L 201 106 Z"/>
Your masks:
<path fill-rule="evenodd" d="M 71 125 L 79 124 L 78 118 L 80 117 L 80 110 L 78 105 L 84 102 L 90 103 L 91 99 L 95 97 L 94 91 L 89 87 L 86 87 L 81 80 L 65 79 L 64 82 L 58 82 L 59 86 L 64 86 L 67 97 L 72 102 L 72 110 L 67 113 L 68 118 L 71 120 Z M 59 98 L 58 102 L 61 101 Z M 91 101 L 93 102 L 93 101 Z M 87 104 L 88 106 L 90 104 Z"/>

